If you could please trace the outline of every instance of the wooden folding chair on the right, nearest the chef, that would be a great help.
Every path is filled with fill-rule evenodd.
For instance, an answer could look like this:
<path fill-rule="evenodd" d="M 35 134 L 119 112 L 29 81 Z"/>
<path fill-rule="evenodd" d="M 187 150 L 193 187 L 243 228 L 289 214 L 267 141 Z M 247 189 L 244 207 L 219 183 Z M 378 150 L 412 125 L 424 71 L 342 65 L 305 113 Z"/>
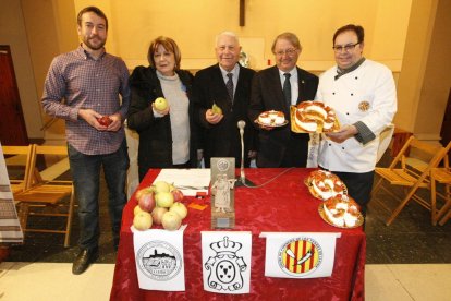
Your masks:
<path fill-rule="evenodd" d="M 394 220 L 411 200 L 416 201 L 419 205 L 430 210 L 432 224 L 436 222 L 438 214 L 436 204 L 431 202 L 429 197 L 425 198 L 417 192 L 418 189 L 430 189 L 430 170 L 439 165 L 449 148 L 450 145 L 444 148 L 442 146 L 420 142 L 414 136 L 411 136 L 388 168 L 376 168 L 376 173 L 380 179 L 373 190 L 373 195 L 376 196 L 379 190 L 382 189 L 400 201 L 400 204 L 387 220 L 387 226 Z M 423 164 L 418 164 L 417 160 L 412 160 L 412 157 L 410 157 L 411 155 L 407 155 L 409 153 L 411 155 L 419 154 Z M 411 165 L 407 164 L 409 161 Z M 385 186 L 383 182 L 388 182 L 389 186 Z M 397 188 L 402 188 L 404 190 L 404 196 L 400 197 L 393 192 Z M 387 206 L 385 207 L 391 210 Z"/>

